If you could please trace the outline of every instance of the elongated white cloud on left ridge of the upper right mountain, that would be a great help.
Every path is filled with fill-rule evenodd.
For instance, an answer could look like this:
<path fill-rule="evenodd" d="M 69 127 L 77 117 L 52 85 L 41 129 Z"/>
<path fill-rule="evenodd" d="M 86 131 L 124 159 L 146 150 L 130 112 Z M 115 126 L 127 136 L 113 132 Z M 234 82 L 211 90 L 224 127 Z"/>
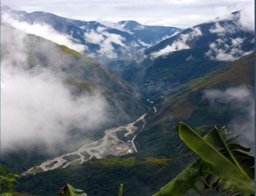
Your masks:
<path fill-rule="evenodd" d="M 192 31 L 185 34 L 180 34 L 179 37 L 172 42 L 171 45 L 167 45 L 163 49 L 153 52 L 150 54 L 152 59 L 155 59 L 161 55 L 167 55 L 170 52 L 189 49 L 190 47 L 187 45 L 187 41 L 193 40 L 196 37 L 202 36 L 202 32 L 199 27 L 191 28 Z"/>

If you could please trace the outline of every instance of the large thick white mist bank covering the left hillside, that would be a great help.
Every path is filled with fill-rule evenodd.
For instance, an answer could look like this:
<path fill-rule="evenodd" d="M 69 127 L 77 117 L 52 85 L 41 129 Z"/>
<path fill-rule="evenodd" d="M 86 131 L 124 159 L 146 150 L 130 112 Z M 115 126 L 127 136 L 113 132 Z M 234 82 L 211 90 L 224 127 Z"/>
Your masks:
<path fill-rule="evenodd" d="M 86 133 L 108 122 L 108 103 L 99 90 L 77 95 L 65 83 L 72 77 L 63 71 L 70 62 L 57 45 L 37 39 L 31 46 L 44 58 L 42 65 L 28 55 L 27 36 L 1 25 L 1 152 L 39 142 L 52 146 L 73 129 Z"/>

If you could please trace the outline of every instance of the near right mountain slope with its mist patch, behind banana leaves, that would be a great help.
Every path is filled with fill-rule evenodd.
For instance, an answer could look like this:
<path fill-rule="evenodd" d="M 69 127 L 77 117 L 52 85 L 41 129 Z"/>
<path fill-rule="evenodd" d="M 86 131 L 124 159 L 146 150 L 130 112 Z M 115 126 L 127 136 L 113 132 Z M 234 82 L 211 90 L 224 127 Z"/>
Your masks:
<path fill-rule="evenodd" d="M 178 121 L 202 130 L 208 125 L 229 125 L 233 131 L 238 129 L 237 134 L 246 127 L 251 135 L 246 122 L 251 119 L 250 108 L 254 108 L 253 86 L 254 53 L 181 85 L 164 95 L 167 99 L 156 105 L 156 113 L 153 109 L 148 113 L 147 125 L 135 139 L 138 151 L 159 156 L 174 153 L 180 140 L 172 127 Z"/>

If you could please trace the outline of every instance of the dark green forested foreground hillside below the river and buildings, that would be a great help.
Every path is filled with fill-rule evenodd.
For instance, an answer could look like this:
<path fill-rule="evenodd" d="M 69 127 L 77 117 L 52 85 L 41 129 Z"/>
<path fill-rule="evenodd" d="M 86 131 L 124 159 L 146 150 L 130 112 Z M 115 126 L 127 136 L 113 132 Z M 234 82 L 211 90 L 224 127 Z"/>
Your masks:
<path fill-rule="evenodd" d="M 123 184 L 123 195 L 141 193 L 149 196 L 170 178 L 174 178 L 194 158 L 190 155 L 173 158 L 137 157 L 131 154 L 95 159 L 64 169 L 22 176 L 20 185 L 15 186 L 15 190 L 38 196 L 52 196 L 58 194 L 63 184 L 70 182 L 74 187 L 85 190 L 88 195 L 102 196 L 118 195 L 120 184 Z M 169 171 L 172 173 L 169 174 Z"/>

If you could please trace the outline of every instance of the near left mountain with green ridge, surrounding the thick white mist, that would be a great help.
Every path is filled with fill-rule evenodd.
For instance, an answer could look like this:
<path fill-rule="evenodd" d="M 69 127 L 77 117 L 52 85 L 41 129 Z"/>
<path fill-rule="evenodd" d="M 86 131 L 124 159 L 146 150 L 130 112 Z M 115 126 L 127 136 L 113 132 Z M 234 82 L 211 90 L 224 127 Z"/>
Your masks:
<path fill-rule="evenodd" d="M 130 123 L 135 121 L 143 113 L 146 113 L 147 107 L 144 105 L 145 101 L 140 93 L 100 63 L 66 46 L 56 44 L 39 36 L 22 33 L 7 25 L 1 24 L 2 33 L 6 36 L 4 40 L 1 39 L 1 66 L 5 66 L 3 71 L 1 68 L 1 82 L 3 80 L 3 83 L 12 83 L 11 79 L 8 80 L 6 73 L 7 68 L 11 65 L 9 64 L 10 62 L 13 66 L 12 72 L 15 73 L 17 68 L 19 77 L 28 73 L 28 75 L 24 75 L 25 79 L 28 78 L 28 81 L 37 75 L 37 77 L 41 77 L 39 74 L 41 72 L 43 74 L 42 79 L 46 82 L 49 80 L 52 81 L 53 76 L 56 77 L 57 79 L 54 79 L 50 85 L 55 86 L 54 81 L 56 80 L 63 83 L 64 90 L 66 91 L 68 89 L 72 93 L 70 102 L 73 99 L 76 101 L 86 96 L 95 96 L 95 98 L 100 96 L 106 101 L 108 106 L 105 111 L 103 110 L 104 113 L 106 112 L 103 116 L 97 114 L 99 117 L 108 118 L 107 121 L 103 124 L 97 121 L 95 126 L 88 125 L 85 128 L 86 130 L 81 128 L 71 129 L 68 132 L 69 135 L 66 143 L 56 142 L 56 150 L 53 152 L 48 147 L 45 147 L 44 142 L 38 142 L 38 146 L 30 146 L 30 148 L 25 150 L 20 149 L 20 151 L 14 152 L 11 150 L 7 153 L 1 151 L 1 164 L 9 171 L 19 173 L 25 171 L 42 160 L 55 156 L 56 154 L 63 154 L 65 151 L 76 149 L 85 138 L 91 140 L 100 139 L 106 129 Z M 25 61 L 23 62 L 24 59 Z M 36 88 L 43 89 L 44 83 L 39 84 Z M 57 85 L 55 91 L 58 91 L 59 87 L 60 85 Z M 23 85 L 21 88 L 25 88 L 25 86 Z M 33 87 L 31 88 L 33 91 Z M 39 96 L 37 94 L 33 95 L 31 92 L 28 91 L 28 95 Z M 42 93 L 48 93 L 48 91 L 42 91 Z M 61 96 L 65 97 L 67 95 L 63 94 Z M 103 103 L 98 103 L 99 108 L 101 108 L 100 104 L 104 107 Z M 83 107 L 83 102 L 75 102 L 75 104 L 79 104 L 79 108 Z M 30 107 L 33 108 L 35 106 Z M 63 107 L 65 106 L 63 105 Z M 45 151 L 42 149 L 45 149 Z"/>

